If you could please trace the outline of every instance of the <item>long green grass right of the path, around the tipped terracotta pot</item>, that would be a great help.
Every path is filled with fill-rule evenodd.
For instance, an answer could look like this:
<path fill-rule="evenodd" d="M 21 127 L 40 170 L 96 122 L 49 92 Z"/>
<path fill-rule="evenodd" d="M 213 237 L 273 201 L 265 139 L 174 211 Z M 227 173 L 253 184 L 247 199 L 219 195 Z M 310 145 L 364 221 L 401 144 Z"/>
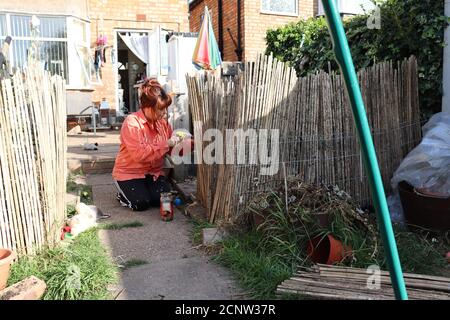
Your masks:
<path fill-rule="evenodd" d="M 347 265 L 367 268 L 377 264 L 387 270 L 381 238 L 376 230 L 375 239 L 372 239 L 367 230 L 348 224 L 340 217 L 333 215 L 327 228 L 314 223 L 301 209 L 287 218 L 280 199 L 258 229 L 234 234 L 223 241 L 223 249 L 214 260 L 229 268 L 254 299 L 276 298 L 278 284 L 290 278 L 299 266 L 312 264 L 305 248 L 313 235 L 332 233 L 342 242 L 351 244 L 353 259 Z M 394 231 L 404 272 L 442 275 L 447 264 L 443 254 L 449 251 L 448 240 L 414 233 L 398 226 L 394 226 Z M 281 298 L 294 297 L 288 295 Z"/>

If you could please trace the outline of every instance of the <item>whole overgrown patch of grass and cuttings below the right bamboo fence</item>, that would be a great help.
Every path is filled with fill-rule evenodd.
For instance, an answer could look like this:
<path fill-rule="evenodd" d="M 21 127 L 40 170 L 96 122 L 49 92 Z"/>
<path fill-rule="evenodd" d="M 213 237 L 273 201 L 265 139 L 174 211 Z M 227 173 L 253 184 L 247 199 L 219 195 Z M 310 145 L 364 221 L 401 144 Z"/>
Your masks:
<path fill-rule="evenodd" d="M 367 268 L 376 264 L 387 270 L 375 215 L 363 212 L 338 188 L 325 188 L 290 181 L 288 200 L 284 188 L 261 193 L 250 201 L 248 213 L 264 216 L 254 230 L 226 239 L 215 259 L 231 269 L 240 284 L 255 299 L 275 298 L 275 289 L 299 267 L 313 263 L 307 256 L 312 237 L 332 234 L 351 246 L 351 259 L 342 264 Z M 318 219 L 327 216 L 327 222 Z M 413 233 L 394 226 L 402 267 L 405 272 L 442 275 L 443 253 L 448 239 Z"/>

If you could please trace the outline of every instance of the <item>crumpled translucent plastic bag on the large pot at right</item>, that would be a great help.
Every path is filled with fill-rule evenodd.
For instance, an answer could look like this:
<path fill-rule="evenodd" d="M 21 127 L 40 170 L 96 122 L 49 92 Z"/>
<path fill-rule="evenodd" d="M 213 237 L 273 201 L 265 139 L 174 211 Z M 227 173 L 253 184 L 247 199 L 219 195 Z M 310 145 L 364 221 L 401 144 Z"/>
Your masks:
<path fill-rule="evenodd" d="M 435 114 L 423 127 L 422 142 L 402 161 L 391 180 L 394 191 L 400 181 L 416 189 L 450 196 L 450 114 Z"/>

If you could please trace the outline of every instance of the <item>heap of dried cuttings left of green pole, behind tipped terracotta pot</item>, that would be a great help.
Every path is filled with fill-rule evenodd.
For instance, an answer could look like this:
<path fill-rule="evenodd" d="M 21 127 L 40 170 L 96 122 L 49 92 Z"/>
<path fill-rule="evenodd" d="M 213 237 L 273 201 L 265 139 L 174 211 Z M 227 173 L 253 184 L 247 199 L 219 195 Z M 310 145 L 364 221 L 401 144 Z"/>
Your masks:
<path fill-rule="evenodd" d="M 250 201 L 247 214 L 268 239 L 288 241 L 289 234 L 295 234 L 300 260 L 306 260 L 304 248 L 308 241 L 326 234 L 333 234 L 354 248 L 350 265 L 375 262 L 379 253 L 373 215 L 336 186 L 312 185 L 293 178 L 284 186 L 257 194 Z"/>

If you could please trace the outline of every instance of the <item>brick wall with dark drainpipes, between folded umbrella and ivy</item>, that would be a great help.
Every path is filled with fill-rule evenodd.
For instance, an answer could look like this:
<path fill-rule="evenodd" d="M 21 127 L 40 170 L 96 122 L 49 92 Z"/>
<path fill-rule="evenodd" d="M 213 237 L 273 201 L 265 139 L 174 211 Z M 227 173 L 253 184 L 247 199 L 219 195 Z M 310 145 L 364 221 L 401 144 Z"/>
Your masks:
<path fill-rule="evenodd" d="M 312 17 L 317 13 L 318 0 L 298 0 L 299 15 L 296 17 L 261 13 L 261 0 L 241 0 L 241 43 L 244 49 L 243 59 L 252 60 L 266 48 L 266 31 L 302 18 Z M 236 61 L 235 45 L 237 42 L 237 8 L 236 0 L 223 0 L 223 55 L 225 61 Z M 189 25 L 192 32 L 200 30 L 201 15 L 204 6 L 212 10 L 214 33 L 218 38 L 217 0 L 198 0 L 191 5 Z M 230 32 L 227 29 L 230 28 Z M 219 39 L 217 39 L 219 41 Z"/>

